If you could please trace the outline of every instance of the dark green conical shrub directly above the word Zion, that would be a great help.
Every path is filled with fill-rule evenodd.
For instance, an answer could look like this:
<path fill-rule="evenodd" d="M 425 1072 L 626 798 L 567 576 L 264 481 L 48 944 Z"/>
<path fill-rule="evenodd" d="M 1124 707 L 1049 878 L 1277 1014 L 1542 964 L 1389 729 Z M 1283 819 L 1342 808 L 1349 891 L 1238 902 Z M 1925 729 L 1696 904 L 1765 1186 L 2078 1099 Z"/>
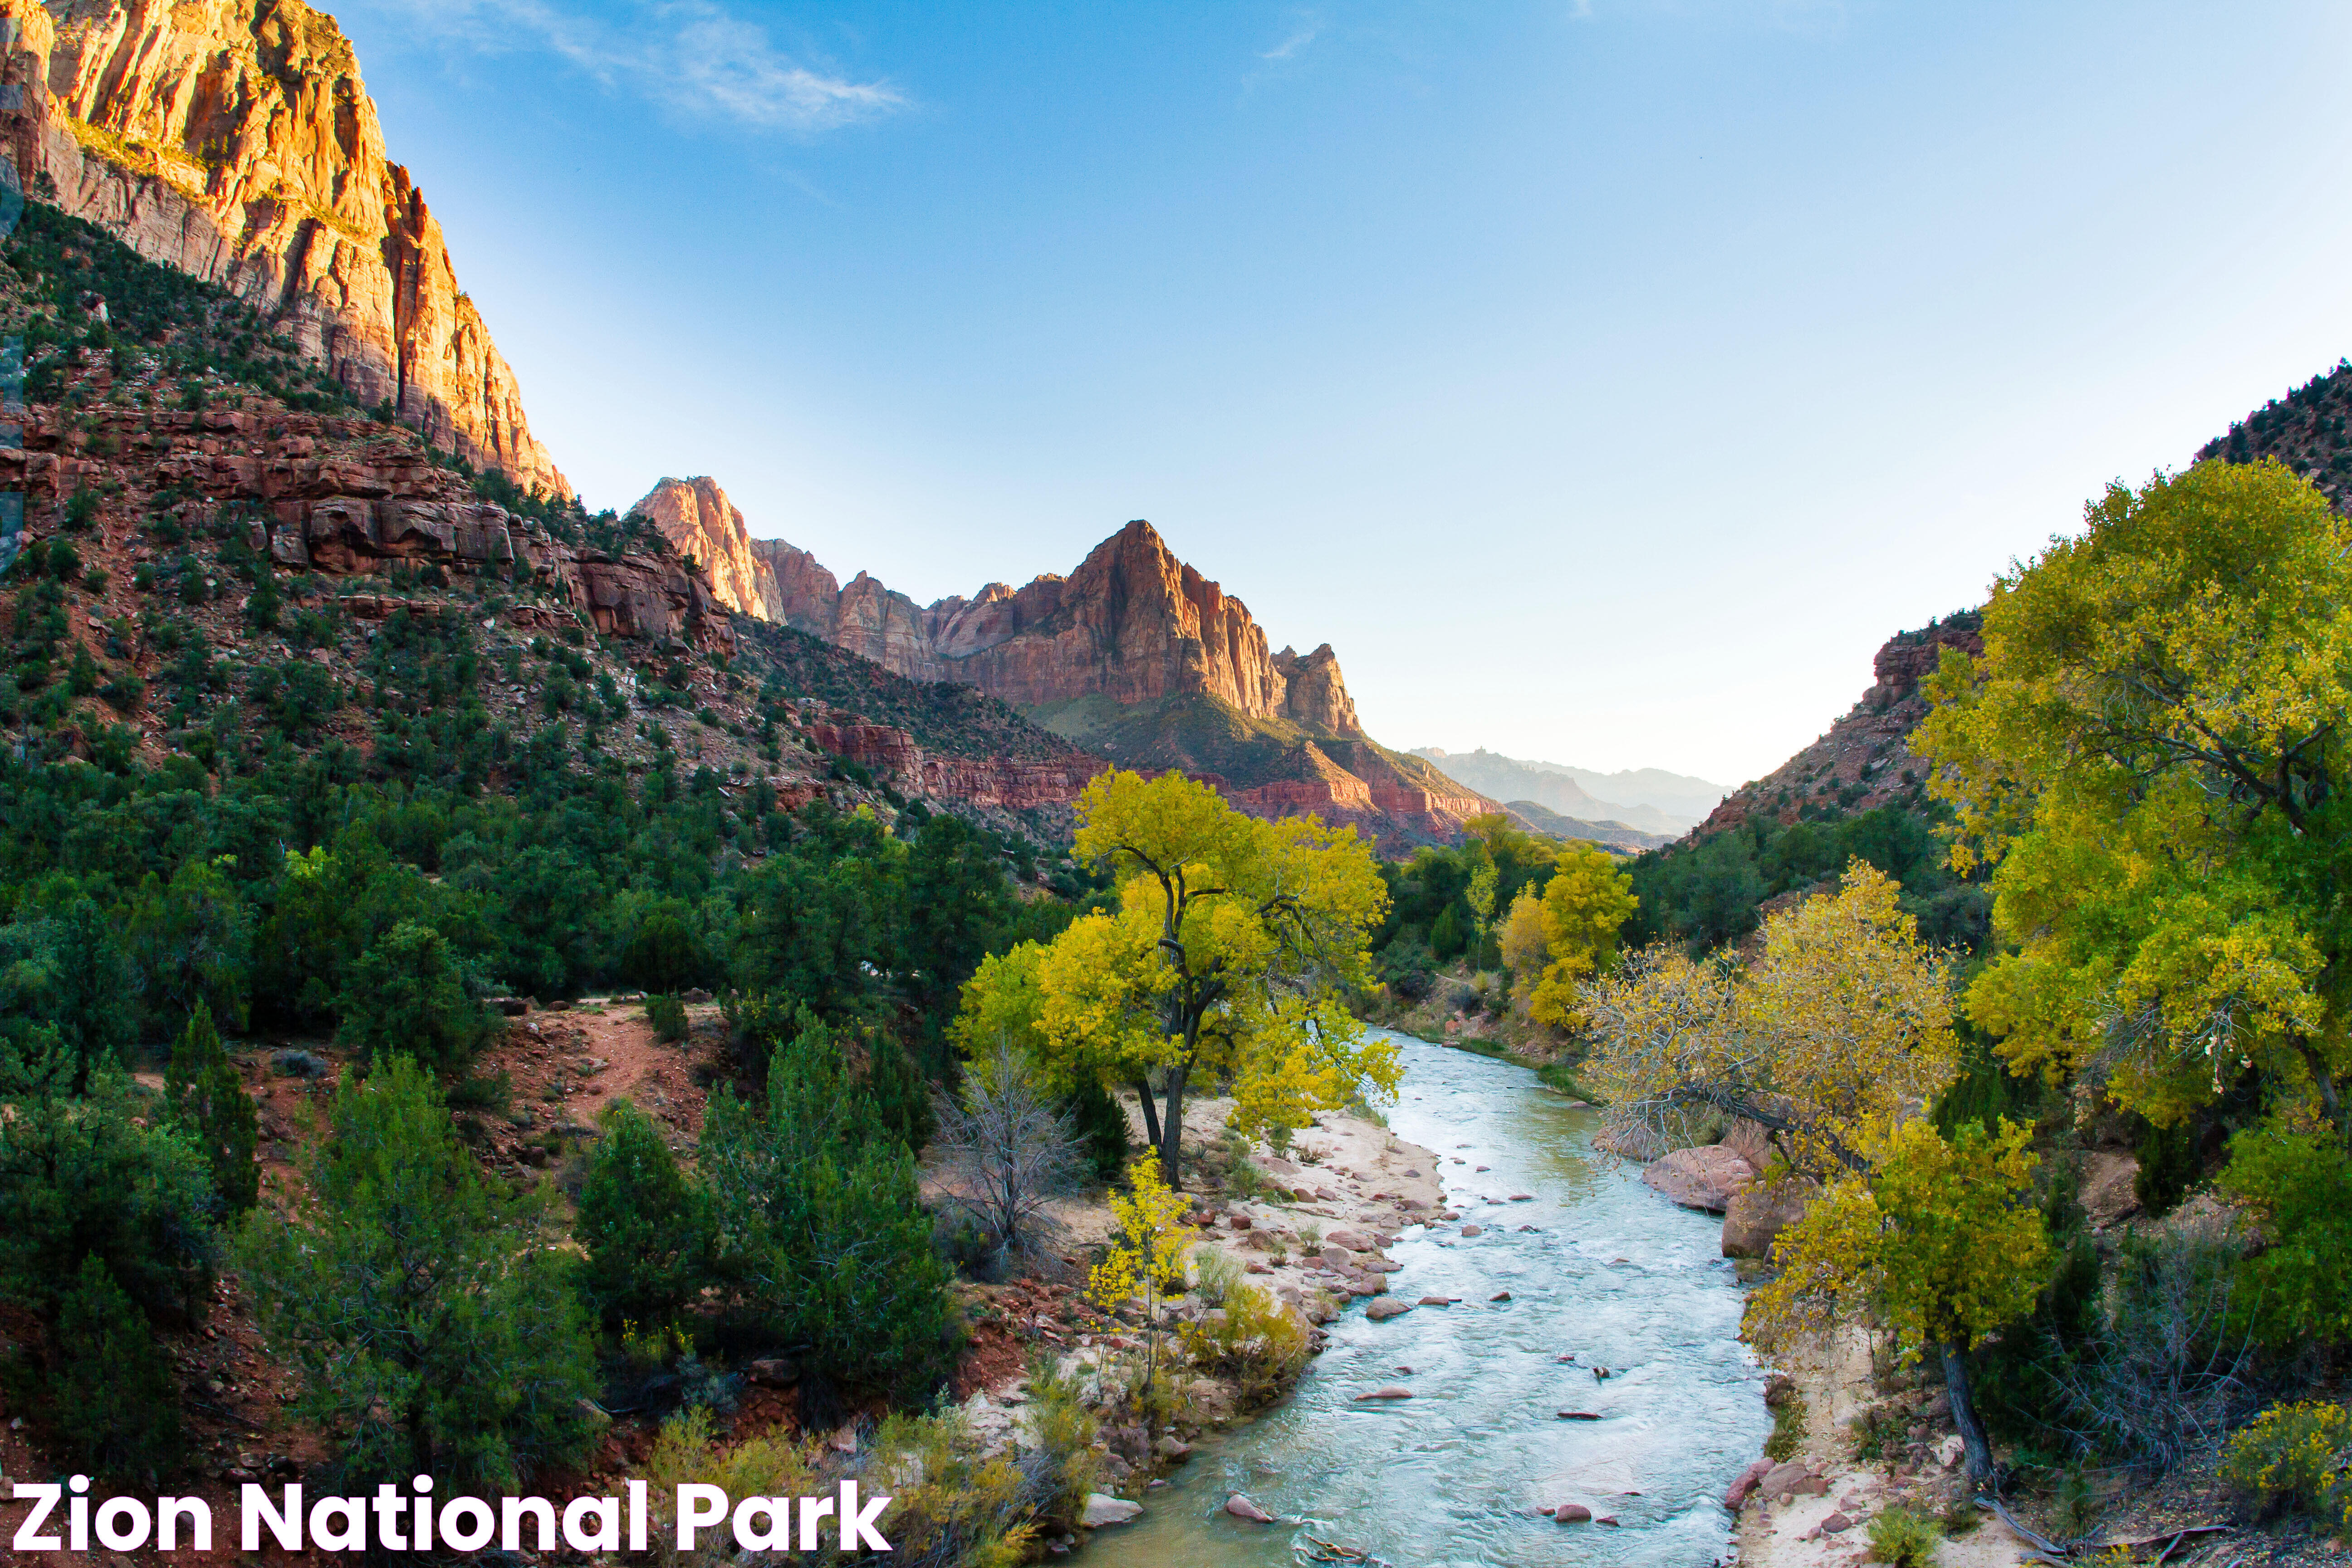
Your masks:
<path fill-rule="evenodd" d="M 179 1389 L 146 1316 L 82 1258 L 52 1333 L 49 1410 L 75 1465 L 153 1479 L 179 1460 Z"/>

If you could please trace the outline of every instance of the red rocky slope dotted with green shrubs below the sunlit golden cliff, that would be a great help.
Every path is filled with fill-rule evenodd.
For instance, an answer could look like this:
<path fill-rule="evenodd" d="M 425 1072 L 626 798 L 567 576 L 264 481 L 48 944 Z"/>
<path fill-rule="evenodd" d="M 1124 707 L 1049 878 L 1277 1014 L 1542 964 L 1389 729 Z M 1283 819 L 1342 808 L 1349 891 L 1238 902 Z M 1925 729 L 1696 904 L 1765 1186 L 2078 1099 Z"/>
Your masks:
<path fill-rule="evenodd" d="M 477 698 L 492 769 L 560 736 L 786 804 L 929 799 L 1044 842 L 1103 766 L 976 691 L 731 616 L 659 534 L 501 505 L 485 491 L 510 487 L 303 381 L 242 301 L 92 223 L 33 202 L 0 263 L 31 360 L 24 444 L 0 449 L 31 538 L 9 625 L 38 693 L 7 712 L 75 755 L 339 743 L 397 773 L 402 736 L 463 726 Z M 78 308 L 92 284 L 111 322 Z"/>

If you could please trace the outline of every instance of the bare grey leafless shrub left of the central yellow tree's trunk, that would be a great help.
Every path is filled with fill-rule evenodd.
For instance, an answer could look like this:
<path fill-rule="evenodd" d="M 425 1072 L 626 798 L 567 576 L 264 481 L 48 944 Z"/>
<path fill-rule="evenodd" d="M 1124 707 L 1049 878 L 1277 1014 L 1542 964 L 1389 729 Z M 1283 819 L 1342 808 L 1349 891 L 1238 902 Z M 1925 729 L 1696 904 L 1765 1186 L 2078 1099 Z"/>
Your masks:
<path fill-rule="evenodd" d="M 955 1178 L 955 1201 L 997 1241 L 1000 1255 L 1028 1244 L 1028 1227 L 1077 1175 L 1077 1133 L 1037 1067 L 997 1041 L 964 1072 L 962 1095 L 936 1095 L 931 1150 Z"/>

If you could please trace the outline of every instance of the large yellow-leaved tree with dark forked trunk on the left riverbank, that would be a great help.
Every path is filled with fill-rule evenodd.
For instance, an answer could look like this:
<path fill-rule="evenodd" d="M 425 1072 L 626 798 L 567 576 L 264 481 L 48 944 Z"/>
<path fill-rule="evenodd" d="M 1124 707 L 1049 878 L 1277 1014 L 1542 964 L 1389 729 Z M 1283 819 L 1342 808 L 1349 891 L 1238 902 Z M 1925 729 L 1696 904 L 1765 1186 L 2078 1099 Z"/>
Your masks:
<path fill-rule="evenodd" d="M 1131 1084 L 1171 1190 L 1197 1074 L 1230 1086 L 1254 1135 L 1395 1095 L 1395 1046 L 1345 1006 L 1388 907 L 1355 827 L 1265 823 L 1181 773 L 1103 773 L 1077 813 L 1117 907 L 983 964 L 953 1025 L 964 1051 L 1004 1037 L 1061 1084 Z"/>

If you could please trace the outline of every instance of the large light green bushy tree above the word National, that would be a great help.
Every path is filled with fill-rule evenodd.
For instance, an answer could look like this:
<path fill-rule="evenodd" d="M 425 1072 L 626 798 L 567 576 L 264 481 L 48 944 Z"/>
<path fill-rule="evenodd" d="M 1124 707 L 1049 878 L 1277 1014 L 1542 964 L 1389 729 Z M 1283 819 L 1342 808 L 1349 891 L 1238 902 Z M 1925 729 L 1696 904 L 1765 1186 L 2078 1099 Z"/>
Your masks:
<path fill-rule="evenodd" d="M 595 1352 L 546 1194 L 508 1197 L 459 1145 L 426 1072 L 348 1077 L 292 1220 L 254 1211 L 238 1265 L 332 1432 L 332 1474 L 442 1474 L 510 1490 L 576 1460 Z"/>

